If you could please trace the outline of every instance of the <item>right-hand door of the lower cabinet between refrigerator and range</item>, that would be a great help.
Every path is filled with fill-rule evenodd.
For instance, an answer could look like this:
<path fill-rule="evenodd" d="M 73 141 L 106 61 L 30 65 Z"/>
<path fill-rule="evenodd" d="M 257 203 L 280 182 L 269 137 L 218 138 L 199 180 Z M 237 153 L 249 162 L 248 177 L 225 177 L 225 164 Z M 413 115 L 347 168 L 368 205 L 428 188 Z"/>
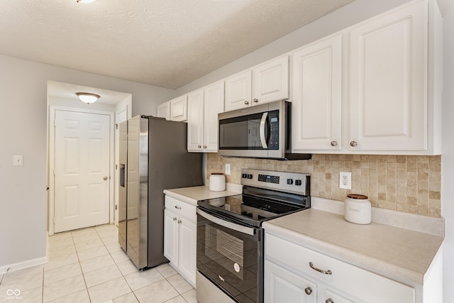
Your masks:
<path fill-rule="evenodd" d="M 179 270 L 192 285 L 196 284 L 196 224 L 179 217 Z"/>

